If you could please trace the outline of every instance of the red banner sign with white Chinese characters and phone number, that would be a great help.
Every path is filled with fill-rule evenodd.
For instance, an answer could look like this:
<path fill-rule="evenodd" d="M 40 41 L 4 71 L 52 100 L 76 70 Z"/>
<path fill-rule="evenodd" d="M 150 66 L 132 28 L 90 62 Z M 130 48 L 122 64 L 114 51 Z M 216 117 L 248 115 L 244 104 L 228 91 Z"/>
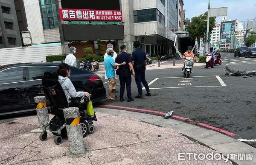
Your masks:
<path fill-rule="evenodd" d="M 122 21 L 122 11 L 60 8 L 61 20 Z"/>

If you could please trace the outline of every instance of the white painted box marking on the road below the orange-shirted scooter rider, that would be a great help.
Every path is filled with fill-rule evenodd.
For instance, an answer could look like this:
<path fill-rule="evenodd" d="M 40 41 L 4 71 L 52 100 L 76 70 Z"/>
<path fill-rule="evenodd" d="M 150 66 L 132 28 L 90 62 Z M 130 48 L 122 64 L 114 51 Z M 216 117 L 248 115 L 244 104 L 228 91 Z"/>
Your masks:
<path fill-rule="evenodd" d="M 161 87 L 161 88 L 149 88 L 149 89 L 171 89 L 171 88 L 196 88 L 196 87 L 227 87 L 227 85 L 224 83 L 224 81 L 220 78 L 220 76 L 193 76 L 195 77 L 216 77 L 221 85 L 215 85 L 215 86 L 195 86 L 195 87 Z M 183 77 L 160 77 L 160 78 L 181 78 L 184 79 Z M 160 78 L 155 78 L 153 81 L 148 83 L 148 86 L 153 84 L 155 81 L 157 81 Z M 188 85 L 192 85 L 190 83 L 187 83 Z M 184 84 L 185 85 L 185 84 Z M 143 87 L 142 89 L 145 89 Z"/>

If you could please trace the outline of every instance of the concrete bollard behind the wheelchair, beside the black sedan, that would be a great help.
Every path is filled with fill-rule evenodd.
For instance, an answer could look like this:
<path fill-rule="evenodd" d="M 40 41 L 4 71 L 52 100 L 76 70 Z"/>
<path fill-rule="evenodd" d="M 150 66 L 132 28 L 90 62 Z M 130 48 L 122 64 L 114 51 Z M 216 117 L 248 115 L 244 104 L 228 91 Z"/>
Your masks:
<path fill-rule="evenodd" d="M 34 100 L 36 103 L 38 103 L 36 106 L 36 113 L 38 115 L 39 129 L 43 130 L 42 127 L 49 122 L 49 114 L 46 108 L 46 98 L 45 96 L 36 96 L 34 97 Z M 48 130 L 49 126 L 47 126 L 46 129 Z"/>

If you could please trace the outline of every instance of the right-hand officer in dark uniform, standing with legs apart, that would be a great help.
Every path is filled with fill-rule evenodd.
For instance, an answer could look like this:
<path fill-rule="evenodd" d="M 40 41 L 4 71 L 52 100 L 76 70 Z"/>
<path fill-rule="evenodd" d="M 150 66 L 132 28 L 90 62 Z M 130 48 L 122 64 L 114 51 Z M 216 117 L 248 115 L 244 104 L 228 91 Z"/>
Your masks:
<path fill-rule="evenodd" d="M 142 96 L 142 86 L 141 83 L 144 85 L 147 94 L 146 96 L 151 96 L 151 93 L 149 91 L 148 82 L 145 78 L 145 70 L 146 70 L 146 63 L 147 63 L 147 57 L 146 53 L 140 49 L 140 42 L 135 41 L 134 42 L 134 52 L 132 52 L 132 64 L 134 66 L 135 70 L 135 81 L 138 88 L 139 95 L 135 96 L 135 98 L 143 98 Z"/>

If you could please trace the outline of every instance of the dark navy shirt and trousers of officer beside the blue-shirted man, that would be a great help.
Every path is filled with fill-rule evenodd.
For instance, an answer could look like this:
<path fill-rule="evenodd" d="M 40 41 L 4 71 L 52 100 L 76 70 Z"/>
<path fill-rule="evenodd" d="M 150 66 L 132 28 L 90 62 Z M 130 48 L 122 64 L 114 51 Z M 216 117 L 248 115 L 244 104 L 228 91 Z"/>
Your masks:
<path fill-rule="evenodd" d="M 122 52 L 116 57 L 115 62 L 118 64 L 126 62 L 125 65 L 119 66 L 120 99 L 124 98 L 125 84 L 126 84 L 127 97 L 129 99 L 131 98 L 131 72 L 130 72 L 130 67 L 128 63 L 132 62 L 131 56 L 126 52 Z"/>

